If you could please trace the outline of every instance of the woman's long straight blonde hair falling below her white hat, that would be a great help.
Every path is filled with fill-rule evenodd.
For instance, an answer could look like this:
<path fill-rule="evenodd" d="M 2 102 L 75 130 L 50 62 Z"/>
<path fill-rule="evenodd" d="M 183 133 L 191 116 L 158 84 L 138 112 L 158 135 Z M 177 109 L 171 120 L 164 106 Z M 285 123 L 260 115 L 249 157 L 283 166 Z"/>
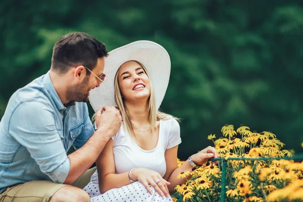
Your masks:
<path fill-rule="evenodd" d="M 145 74 L 147 75 L 148 79 L 150 80 L 145 67 L 138 61 L 134 61 L 134 62 L 138 63 L 143 68 Z M 122 97 L 121 90 L 119 87 L 118 71 L 115 76 L 114 89 L 115 89 L 115 101 L 116 101 L 117 107 L 119 108 L 121 115 L 122 115 L 124 130 L 126 130 L 130 134 L 130 136 L 132 138 L 134 138 L 134 140 L 136 140 L 135 135 L 134 135 L 133 126 L 132 126 L 131 120 L 129 118 L 128 111 L 125 108 L 125 105 L 123 102 L 123 97 Z M 149 96 L 149 99 L 147 102 L 148 102 L 148 121 L 151 125 L 151 131 L 153 134 L 158 129 L 157 120 L 168 120 L 168 119 L 174 118 L 177 121 L 179 121 L 179 119 L 176 117 L 173 117 L 169 114 L 165 114 L 159 110 L 156 110 L 155 93 L 154 93 L 153 85 L 151 84 L 151 82 L 150 82 L 150 96 Z"/>

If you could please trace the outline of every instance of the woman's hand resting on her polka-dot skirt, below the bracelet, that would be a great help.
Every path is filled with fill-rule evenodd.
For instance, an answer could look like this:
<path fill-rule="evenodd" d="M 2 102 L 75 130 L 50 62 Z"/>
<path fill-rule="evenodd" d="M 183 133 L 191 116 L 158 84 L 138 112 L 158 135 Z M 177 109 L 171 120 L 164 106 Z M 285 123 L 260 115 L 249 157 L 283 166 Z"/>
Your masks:
<path fill-rule="evenodd" d="M 162 178 L 162 176 L 153 170 L 146 168 L 137 168 L 131 172 L 131 179 L 141 182 L 150 194 L 153 192 L 149 188 L 149 184 L 155 188 L 155 190 L 162 196 L 169 196 L 167 185 L 170 185 L 168 181 Z"/>

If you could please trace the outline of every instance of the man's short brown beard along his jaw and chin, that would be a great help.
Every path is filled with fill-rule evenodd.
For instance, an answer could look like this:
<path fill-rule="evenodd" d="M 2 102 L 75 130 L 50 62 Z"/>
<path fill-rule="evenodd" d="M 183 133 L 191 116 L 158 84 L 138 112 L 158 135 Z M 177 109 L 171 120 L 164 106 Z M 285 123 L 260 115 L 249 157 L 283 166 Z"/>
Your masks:
<path fill-rule="evenodd" d="M 67 88 L 66 96 L 70 102 L 88 102 L 88 76 L 85 76 L 82 83 L 79 85 L 69 86 Z"/>

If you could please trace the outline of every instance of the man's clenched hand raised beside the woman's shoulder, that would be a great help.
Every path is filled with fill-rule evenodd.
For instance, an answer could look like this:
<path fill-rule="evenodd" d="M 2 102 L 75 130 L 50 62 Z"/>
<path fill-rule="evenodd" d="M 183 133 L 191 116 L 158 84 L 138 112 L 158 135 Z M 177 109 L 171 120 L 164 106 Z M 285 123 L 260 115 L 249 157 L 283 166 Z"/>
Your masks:
<path fill-rule="evenodd" d="M 105 106 L 96 111 L 95 114 L 97 131 L 102 132 L 109 138 L 117 134 L 122 118 L 119 110 L 113 106 Z"/>

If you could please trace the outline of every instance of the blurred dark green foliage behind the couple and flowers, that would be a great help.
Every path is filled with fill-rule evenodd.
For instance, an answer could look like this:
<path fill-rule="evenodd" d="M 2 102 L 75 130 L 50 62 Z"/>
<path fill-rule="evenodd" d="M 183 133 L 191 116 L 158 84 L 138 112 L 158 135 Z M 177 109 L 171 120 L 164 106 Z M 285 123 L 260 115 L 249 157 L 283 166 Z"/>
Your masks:
<path fill-rule="evenodd" d="M 183 119 L 179 158 L 224 124 L 269 130 L 302 152 L 303 1 L 112 0 L 0 3 L 0 118 L 11 94 L 51 66 L 52 47 L 87 32 L 111 51 L 135 40 L 171 57 L 161 106 Z M 90 109 L 91 114 L 93 111 Z"/>

